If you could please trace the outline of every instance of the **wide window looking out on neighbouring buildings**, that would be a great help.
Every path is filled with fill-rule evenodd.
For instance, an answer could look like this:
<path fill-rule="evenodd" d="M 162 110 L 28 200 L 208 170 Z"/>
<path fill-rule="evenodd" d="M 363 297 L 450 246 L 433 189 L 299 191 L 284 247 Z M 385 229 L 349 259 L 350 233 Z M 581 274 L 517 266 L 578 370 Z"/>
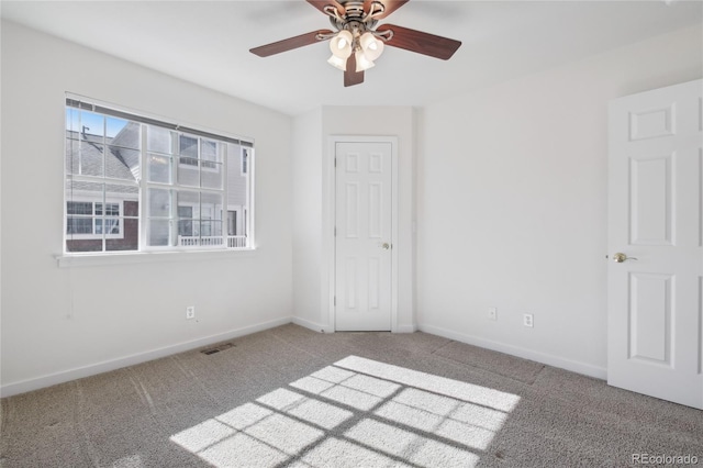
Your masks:
<path fill-rule="evenodd" d="M 65 252 L 250 247 L 253 152 L 68 97 Z"/>

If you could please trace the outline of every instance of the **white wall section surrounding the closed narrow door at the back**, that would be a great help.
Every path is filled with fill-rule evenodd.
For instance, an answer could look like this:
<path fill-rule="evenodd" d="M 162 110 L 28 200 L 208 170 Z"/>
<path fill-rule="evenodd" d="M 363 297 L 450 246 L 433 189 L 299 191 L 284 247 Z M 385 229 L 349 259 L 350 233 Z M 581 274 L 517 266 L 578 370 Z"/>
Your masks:
<path fill-rule="evenodd" d="M 297 235 L 293 245 L 293 308 L 295 320 L 301 325 L 333 330 L 328 317 L 331 272 L 327 253 L 331 250 L 331 237 L 325 234 L 327 220 L 334 213 L 331 205 L 334 193 L 331 193 L 327 178 L 332 161 L 328 138 L 332 135 L 395 136 L 399 146 L 398 331 L 415 330 L 412 232 L 414 120 L 414 110 L 409 107 L 323 107 L 321 113 L 315 111 L 294 119 L 298 142 L 293 156 L 297 178 L 293 182 L 294 231 L 301 235 Z M 300 136 L 301 132 L 304 137 Z M 311 213 L 312 218 L 309 218 Z"/>

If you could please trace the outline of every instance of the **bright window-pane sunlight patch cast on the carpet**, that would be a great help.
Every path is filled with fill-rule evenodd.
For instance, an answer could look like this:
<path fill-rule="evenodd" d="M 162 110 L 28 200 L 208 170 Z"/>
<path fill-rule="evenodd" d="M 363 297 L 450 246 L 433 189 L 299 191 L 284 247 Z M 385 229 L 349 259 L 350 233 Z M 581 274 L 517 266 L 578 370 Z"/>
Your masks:
<path fill-rule="evenodd" d="M 518 401 L 348 356 L 170 439 L 220 468 L 470 467 Z"/>

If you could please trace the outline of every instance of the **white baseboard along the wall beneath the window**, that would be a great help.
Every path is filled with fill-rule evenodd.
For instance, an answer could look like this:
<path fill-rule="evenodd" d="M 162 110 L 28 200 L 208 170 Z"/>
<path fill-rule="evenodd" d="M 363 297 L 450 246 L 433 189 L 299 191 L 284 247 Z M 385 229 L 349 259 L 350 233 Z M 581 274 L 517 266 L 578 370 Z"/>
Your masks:
<path fill-rule="evenodd" d="M 110 370 L 120 369 L 127 366 L 134 366 L 136 364 L 146 363 L 148 360 L 158 359 L 161 357 L 170 356 L 177 353 L 208 346 L 213 343 L 224 342 L 226 339 L 236 338 L 238 336 L 249 335 L 252 333 L 261 332 L 264 330 L 272 328 L 275 326 L 284 325 L 291 323 L 293 320 L 290 316 L 271 320 L 268 322 L 257 323 L 255 325 L 244 326 L 242 328 L 231 330 L 225 333 L 219 333 L 216 335 L 210 335 L 202 338 L 193 339 L 190 342 L 179 343 L 172 346 L 166 346 L 158 349 L 153 349 L 145 353 L 134 354 L 118 359 L 105 360 L 102 363 L 91 364 L 85 367 L 78 367 L 75 369 L 64 370 L 56 374 L 49 374 L 47 376 L 37 377 L 34 379 L 22 380 L 19 382 L 7 383 L 0 387 L 0 395 L 12 397 L 13 394 L 24 393 L 32 390 L 38 390 L 45 387 L 55 386 L 57 383 L 68 382 L 70 380 L 81 379 L 83 377 L 90 377 Z"/>

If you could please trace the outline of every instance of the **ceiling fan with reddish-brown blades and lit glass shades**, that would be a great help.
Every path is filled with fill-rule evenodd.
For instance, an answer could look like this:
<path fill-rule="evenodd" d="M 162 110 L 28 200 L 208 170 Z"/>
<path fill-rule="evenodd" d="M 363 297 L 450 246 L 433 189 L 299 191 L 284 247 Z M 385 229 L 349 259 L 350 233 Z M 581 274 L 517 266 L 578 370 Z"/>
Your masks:
<path fill-rule="evenodd" d="M 306 0 L 330 16 L 332 30 L 317 30 L 271 44 L 254 47 L 259 57 L 280 54 L 310 44 L 330 41 L 332 66 L 344 70 L 344 86 L 364 82 L 364 71 L 373 66 L 386 45 L 446 60 L 460 41 L 423 33 L 393 24 L 376 26 L 409 0 Z"/>

